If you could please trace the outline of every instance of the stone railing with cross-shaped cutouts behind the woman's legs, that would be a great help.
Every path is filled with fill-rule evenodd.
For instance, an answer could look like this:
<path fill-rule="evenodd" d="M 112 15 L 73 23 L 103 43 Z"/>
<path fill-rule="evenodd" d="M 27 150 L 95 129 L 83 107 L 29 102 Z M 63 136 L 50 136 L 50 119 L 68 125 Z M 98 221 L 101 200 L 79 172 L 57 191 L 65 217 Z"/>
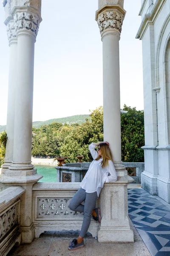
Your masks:
<path fill-rule="evenodd" d="M 71 198 L 79 183 L 36 183 L 33 186 L 33 224 L 35 238 L 44 231 L 80 230 L 83 213 L 71 211 Z M 96 202 L 99 207 L 99 199 Z M 99 223 L 91 220 L 88 232 L 97 236 Z"/>

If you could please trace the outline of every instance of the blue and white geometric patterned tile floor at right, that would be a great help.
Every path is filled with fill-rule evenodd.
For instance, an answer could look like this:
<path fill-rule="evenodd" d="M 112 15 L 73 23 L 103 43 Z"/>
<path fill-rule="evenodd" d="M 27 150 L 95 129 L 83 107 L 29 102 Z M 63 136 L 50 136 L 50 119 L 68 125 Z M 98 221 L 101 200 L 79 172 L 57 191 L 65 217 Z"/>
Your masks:
<path fill-rule="evenodd" d="M 144 189 L 128 189 L 129 217 L 152 256 L 170 256 L 170 205 Z"/>

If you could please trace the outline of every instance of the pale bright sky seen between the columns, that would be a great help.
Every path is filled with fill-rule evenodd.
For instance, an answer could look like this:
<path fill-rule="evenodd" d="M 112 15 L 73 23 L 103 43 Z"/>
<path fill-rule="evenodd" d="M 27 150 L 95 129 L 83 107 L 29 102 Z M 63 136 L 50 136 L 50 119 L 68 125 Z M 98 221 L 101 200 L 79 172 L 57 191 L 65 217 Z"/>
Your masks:
<path fill-rule="evenodd" d="M 120 39 L 121 108 L 143 110 L 141 0 L 125 0 Z M 42 0 L 34 60 L 33 121 L 89 114 L 103 105 L 102 41 L 97 0 Z M 6 125 L 9 47 L 0 6 L 0 125 Z"/>

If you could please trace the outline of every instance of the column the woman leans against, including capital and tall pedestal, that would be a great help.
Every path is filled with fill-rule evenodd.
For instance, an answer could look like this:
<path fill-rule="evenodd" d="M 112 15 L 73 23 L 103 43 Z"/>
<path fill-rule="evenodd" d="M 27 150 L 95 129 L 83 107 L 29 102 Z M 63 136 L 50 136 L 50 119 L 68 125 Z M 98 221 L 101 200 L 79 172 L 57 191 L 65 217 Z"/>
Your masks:
<path fill-rule="evenodd" d="M 121 160 L 119 39 L 125 15 L 123 0 L 99 0 L 96 20 L 103 43 L 103 128 L 104 140 L 113 153 L 118 180 L 104 185 L 100 195 L 102 221 L 99 242 L 132 242 L 127 205 L 127 175 Z"/>

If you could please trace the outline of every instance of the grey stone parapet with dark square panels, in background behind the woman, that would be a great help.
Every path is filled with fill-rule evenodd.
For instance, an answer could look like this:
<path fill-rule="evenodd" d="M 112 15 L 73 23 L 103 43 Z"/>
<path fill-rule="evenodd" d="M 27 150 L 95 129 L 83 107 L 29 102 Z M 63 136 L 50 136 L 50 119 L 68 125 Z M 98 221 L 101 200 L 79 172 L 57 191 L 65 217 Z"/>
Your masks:
<path fill-rule="evenodd" d="M 81 182 L 91 163 L 67 163 L 57 166 L 58 182 Z M 123 163 L 136 183 L 141 183 L 141 173 L 144 172 L 144 163 Z"/>

